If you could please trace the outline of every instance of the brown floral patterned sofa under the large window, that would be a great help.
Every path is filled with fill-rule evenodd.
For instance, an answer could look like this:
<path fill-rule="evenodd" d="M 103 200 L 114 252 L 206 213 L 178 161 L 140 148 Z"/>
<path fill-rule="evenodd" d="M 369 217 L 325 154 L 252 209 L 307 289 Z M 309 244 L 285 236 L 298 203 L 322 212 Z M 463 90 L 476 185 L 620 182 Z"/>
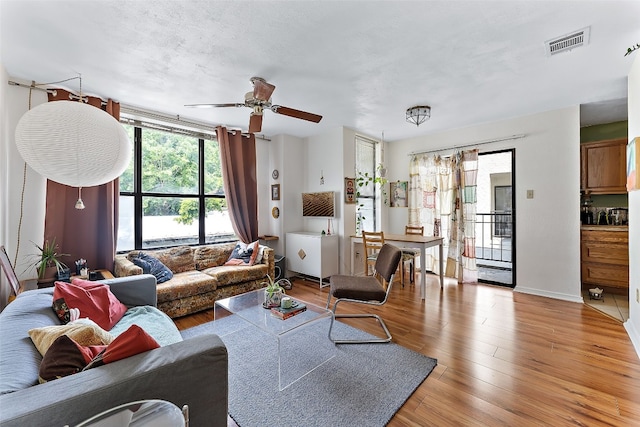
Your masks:
<path fill-rule="evenodd" d="M 173 277 L 157 285 L 158 308 L 172 318 L 212 308 L 218 299 L 264 287 L 266 276 L 274 277 L 274 251 L 260 246 L 262 259 L 254 265 L 224 265 L 236 243 L 178 246 L 168 249 L 131 251 L 116 255 L 116 277 L 142 274 L 133 263 L 140 252 L 159 259 Z"/>

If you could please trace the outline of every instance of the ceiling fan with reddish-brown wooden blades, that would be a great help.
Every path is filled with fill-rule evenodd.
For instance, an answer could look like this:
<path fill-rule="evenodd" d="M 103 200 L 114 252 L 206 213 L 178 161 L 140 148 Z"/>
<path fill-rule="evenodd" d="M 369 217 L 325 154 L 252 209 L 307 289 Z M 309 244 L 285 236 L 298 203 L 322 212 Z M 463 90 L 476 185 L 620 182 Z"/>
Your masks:
<path fill-rule="evenodd" d="M 249 107 L 253 109 L 249 118 L 249 133 L 256 133 L 262 130 L 262 112 L 271 110 L 276 114 L 282 114 L 296 119 L 307 120 L 318 123 L 322 120 L 322 116 L 308 113 L 306 111 L 295 110 L 293 108 L 284 107 L 282 105 L 274 105 L 271 103 L 271 94 L 275 90 L 275 86 L 269 84 L 262 77 L 251 77 L 253 83 L 253 92 L 247 92 L 244 96 L 244 103 L 229 104 L 188 104 L 185 107 L 196 108 L 216 108 L 216 107 Z"/>

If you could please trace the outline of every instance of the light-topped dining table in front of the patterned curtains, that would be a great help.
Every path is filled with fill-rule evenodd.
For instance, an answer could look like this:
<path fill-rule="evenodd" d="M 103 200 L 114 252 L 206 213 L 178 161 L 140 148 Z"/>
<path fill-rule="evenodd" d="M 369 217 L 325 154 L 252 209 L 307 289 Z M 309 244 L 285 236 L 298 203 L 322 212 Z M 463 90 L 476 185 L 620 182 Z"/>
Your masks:
<path fill-rule="evenodd" d="M 420 260 L 422 268 L 420 268 L 420 297 L 424 300 L 427 288 L 427 271 L 425 261 L 427 258 L 427 249 L 438 246 L 439 263 L 440 263 L 440 288 L 444 287 L 444 260 L 443 260 L 443 238 L 436 236 L 420 236 L 416 234 L 391 234 L 384 233 L 384 242 L 398 246 L 399 248 L 416 248 L 420 249 Z M 354 274 L 355 268 L 355 247 L 362 244 L 362 236 L 351 236 L 351 274 Z"/>

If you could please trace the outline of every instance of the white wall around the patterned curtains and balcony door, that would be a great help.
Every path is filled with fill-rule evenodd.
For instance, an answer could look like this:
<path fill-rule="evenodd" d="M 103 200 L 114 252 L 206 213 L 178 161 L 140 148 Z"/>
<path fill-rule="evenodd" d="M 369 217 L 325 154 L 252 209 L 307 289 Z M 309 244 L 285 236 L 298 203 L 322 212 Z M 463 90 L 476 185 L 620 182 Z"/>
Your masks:
<path fill-rule="evenodd" d="M 411 152 L 526 134 L 523 139 L 478 146 L 481 151 L 516 151 L 515 291 L 582 302 L 579 114 L 579 106 L 574 106 L 389 143 L 390 179 L 409 178 Z M 534 190 L 535 197 L 527 199 L 526 190 Z M 407 210 L 389 209 L 388 216 L 389 231 L 403 233 Z"/>

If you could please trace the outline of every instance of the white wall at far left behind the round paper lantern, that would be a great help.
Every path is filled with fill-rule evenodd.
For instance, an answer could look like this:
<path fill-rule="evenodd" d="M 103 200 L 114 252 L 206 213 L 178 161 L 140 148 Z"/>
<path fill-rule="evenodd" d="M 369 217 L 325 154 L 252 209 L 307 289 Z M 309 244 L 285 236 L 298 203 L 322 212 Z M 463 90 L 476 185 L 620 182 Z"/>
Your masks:
<path fill-rule="evenodd" d="M 36 277 L 33 268 L 27 269 L 30 255 L 35 252 L 33 243 L 42 244 L 44 239 L 45 179 L 30 167 L 27 167 L 25 198 L 22 214 L 22 227 L 18 237 L 20 223 L 21 194 L 23 185 L 24 160 L 15 145 L 15 130 L 18 121 L 29 110 L 29 90 L 18 86 L 9 86 L 9 76 L 2 69 L 2 133 L 0 134 L 0 159 L 3 179 L 2 186 L 6 194 L 1 198 L 0 244 L 4 245 L 11 262 L 14 262 L 16 250 L 19 250 L 17 264 L 14 266 L 20 280 Z M 29 83 L 29 82 L 27 82 Z M 31 107 L 47 101 L 46 94 L 34 90 Z M 5 175 L 6 174 L 6 175 Z M 19 248 L 18 248 L 19 246 Z M 26 270 L 26 271 L 25 271 Z"/>

